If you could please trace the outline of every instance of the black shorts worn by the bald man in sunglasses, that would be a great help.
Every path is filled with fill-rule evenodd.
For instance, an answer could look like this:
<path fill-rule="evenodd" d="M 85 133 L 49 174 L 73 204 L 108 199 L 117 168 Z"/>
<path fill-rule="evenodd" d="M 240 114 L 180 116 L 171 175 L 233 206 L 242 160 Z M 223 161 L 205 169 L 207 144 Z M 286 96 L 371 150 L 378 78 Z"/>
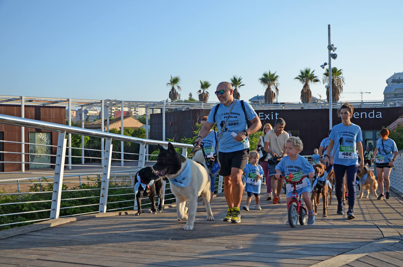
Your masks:
<path fill-rule="evenodd" d="M 231 175 L 231 168 L 238 168 L 243 170 L 248 163 L 249 148 L 238 150 L 234 152 L 219 152 L 218 159 L 220 159 L 220 175 Z"/>

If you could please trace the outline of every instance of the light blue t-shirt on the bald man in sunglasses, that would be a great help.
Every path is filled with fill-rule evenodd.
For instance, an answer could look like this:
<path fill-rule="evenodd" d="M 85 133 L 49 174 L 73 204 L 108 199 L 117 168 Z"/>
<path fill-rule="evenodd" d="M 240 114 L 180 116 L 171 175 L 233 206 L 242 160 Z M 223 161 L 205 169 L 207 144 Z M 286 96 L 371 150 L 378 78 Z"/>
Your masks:
<path fill-rule="evenodd" d="M 242 106 L 241 106 L 241 101 L 234 99 L 235 101 L 235 106 L 233 110 L 231 111 L 231 114 L 229 114 L 229 111 L 231 109 L 231 105 L 229 106 L 224 106 L 223 104 L 219 104 L 218 110 L 216 113 L 216 123 L 217 123 L 217 128 L 218 128 L 218 133 L 221 132 L 222 127 L 224 126 L 224 123 L 229 117 L 227 124 L 222 131 L 221 137 L 220 137 L 220 142 L 219 142 L 219 152 L 234 152 L 234 151 L 239 151 L 243 150 L 246 148 L 249 148 L 249 137 L 247 136 L 245 138 L 245 142 L 239 142 L 234 139 L 233 136 L 231 136 L 231 133 L 234 132 L 235 134 L 238 134 L 239 132 L 247 129 L 247 124 L 246 124 L 246 119 L 245 119 L 245 113 L 243 112 Z M 251 121 L 254 119 L 256 116 L 256 112 L 253 110 L 252 106 L 248 102 L 243 102 L 245 104 L 245 111 L 247 118 Z M 215 107 L 213 107 L 208 115 L 207 121 L 209 123 L 214 123 L 214 111 Z"/>

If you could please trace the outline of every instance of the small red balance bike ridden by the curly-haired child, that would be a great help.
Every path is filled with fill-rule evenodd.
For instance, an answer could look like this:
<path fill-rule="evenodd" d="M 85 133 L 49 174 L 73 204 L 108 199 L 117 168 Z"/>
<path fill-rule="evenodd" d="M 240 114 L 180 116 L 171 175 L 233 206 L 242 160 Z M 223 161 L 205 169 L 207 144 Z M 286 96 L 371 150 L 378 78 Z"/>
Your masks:
<path fill-rule="evenodd" d="M 283 175 L 281 175 L 281 177 L 284 180 L 287 179 Z M 299 200 L 297 200 L 297 189 L 296 189 L 297 184 L 299 184 L 303 179 L 305 179 L 305 177 L 308 177 L 308 175 L 304 175 L 303 177 L 301 177 L 301 179 L 299 179 L 299 181 L 292 181 L 293 175 L 290 174 L 289 179 L 287 180 L 287 182 L 289 182 L 294 187 L 292 196 L 293 199 L 287 205 L 288 222 L 291 227 L 297 226 L 298 219 L 300 225 L 304 225 L 306 221 L 307 211 L 305 208 L 305 204 L 301 203 L 301 195 L 299 195 Z"/>

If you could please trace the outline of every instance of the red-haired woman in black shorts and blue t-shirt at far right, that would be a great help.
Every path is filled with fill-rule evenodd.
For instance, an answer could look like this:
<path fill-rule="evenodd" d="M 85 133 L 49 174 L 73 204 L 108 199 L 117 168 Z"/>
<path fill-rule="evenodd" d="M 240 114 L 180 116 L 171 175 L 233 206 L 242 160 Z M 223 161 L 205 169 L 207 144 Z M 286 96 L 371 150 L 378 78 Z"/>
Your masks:
<path fill-rule="evenodd" d="M 386 199 L 391 197 L 389 193 L 389 186 L 391 185 L 391 180 L 389 180 L 389 175 L 391 174 L 393 163 L 397 158 L 397 146 L 395 141 L 389 136 L 388 129 L 380 130 L 381 138 L 376 142 L 376 148 L 374 154 L 372 155 L 371 162 L 375 160 L 376 174 L 378 175 L 378 187 L 380 195 L 378 199 L 385 199 L 383 195 L 383 181 L 385 180 L 386 189 Z M 392 153 L 394 152 L 393 156 Z"/>

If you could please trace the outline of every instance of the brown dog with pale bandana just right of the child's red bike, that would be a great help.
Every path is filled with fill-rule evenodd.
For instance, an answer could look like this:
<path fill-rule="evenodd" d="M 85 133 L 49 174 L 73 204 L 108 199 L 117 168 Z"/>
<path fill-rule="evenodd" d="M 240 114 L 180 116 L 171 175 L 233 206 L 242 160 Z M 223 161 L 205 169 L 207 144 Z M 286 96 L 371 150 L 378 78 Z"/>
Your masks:
<path fill-rule="evenodd" d="M 314 213 L 315 215 L 318 214 L 318 204 L 320 200 L 320 194 L 322 194 L 323 217 L 327 217 L 329 186 L 325 173 L 326 166 L 322 163 L 317 163 L 313 167 L 315 174 L 317 176 L 317 178 L 312 184 L 312 195 L 311 195 L 312 204 L 314 206 Z"/>

